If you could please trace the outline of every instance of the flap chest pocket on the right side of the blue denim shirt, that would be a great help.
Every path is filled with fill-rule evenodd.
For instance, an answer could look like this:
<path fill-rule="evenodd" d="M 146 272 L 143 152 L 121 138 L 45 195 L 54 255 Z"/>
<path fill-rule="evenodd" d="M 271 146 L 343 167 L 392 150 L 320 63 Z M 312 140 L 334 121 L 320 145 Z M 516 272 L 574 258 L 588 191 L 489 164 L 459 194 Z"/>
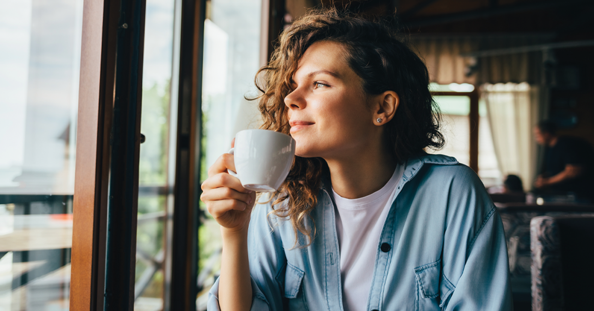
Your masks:
<path fill-rule="evenodd" d="M 439 310 L 447 305 L 454 285 L 441 270 L 441 259 L 415 268 L 416 310 Z"/>

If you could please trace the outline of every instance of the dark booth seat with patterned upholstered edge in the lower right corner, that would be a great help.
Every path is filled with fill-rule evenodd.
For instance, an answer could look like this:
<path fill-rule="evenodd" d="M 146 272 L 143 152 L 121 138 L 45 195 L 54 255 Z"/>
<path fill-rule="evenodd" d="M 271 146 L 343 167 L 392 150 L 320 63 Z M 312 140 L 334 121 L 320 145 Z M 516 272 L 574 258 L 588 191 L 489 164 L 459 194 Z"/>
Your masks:
<path fill-rule="evenodd" d="M 594 216 L 530 221 L 532 310 L 592 310 Z"/>

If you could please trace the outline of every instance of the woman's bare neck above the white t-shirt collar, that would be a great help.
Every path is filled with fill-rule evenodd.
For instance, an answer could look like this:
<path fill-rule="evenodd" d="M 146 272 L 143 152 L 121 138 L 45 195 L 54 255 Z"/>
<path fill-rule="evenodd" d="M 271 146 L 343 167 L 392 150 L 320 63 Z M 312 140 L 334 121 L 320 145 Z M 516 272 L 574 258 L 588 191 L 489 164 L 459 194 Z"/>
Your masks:
<path fill-rule="evenodd" d="M 380 190 L 396 169 L 396 161 L 384 148 L 325 160 L 330 169 L 332 188 L 343 198 L 361 198 Z"/>

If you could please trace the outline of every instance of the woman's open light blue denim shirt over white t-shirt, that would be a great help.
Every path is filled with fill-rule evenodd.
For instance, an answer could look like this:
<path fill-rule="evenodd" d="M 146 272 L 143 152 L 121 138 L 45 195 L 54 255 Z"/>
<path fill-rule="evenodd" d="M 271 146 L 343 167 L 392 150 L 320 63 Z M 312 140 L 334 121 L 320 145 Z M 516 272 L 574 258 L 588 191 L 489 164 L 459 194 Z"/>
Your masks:
<path fill-rule="evenodd" d="M 251 310 L 343 310 L 329 187 L 312 210 L 315 238 L 293 247 L 286 219 L 254 207 L 248 253 Z M 345 228 L 357 230 L 357 228 Z M 298 235 L 298 243 L 304 243 Z M 443 155 L 409 159 L 377 243 L 366 310 L 511 310 L 503 225 L 472 169 Z M 219 310 L 218 280 L 208 310 Z"/>

